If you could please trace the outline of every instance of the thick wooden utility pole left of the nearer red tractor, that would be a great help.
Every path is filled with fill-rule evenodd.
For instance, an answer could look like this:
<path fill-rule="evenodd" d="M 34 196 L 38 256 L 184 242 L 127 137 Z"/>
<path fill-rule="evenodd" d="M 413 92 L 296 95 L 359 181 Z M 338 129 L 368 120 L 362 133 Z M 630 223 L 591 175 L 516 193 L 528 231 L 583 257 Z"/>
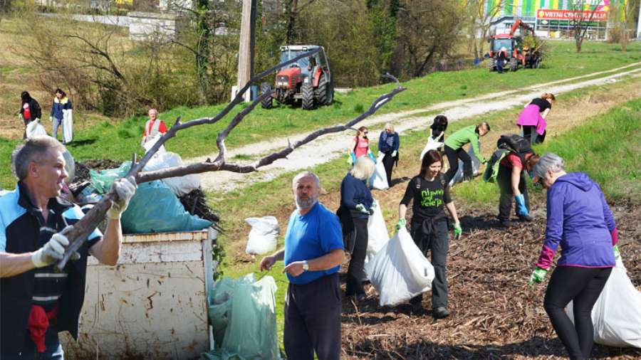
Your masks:
<path fill-rule="evenodd" d="M 242 88 L 254 74 L 254 39 L 256 38 L 256 0 L 243 0 L 240 46 L 238 51 L 238 83 Z M 251 101 L 251 88 L 245 92 L 245 101 Z"/>

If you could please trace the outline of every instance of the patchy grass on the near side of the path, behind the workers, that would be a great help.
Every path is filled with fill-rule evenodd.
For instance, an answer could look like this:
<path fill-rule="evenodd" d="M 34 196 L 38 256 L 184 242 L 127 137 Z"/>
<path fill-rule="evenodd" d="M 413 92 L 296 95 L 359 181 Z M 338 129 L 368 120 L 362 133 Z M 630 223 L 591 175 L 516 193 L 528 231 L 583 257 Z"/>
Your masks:
<path fill-rule="evenodd" d="M 628 86 L 637 86 L 637 82 L 630 82 Z M 565 107 L 571 112 L 574 107 L 580 106 L 585 98 L 598 98 L 612 90 L 612 85 L 603 86 L 597 90 L 580 90 L 571 92 L 564 97 L 557 107 Z M 566 102 L 565 105 L 562 105 Z M 559 110 L 555 109 L 557 112 Z M 511 119 L 520 111 L 513 108 L 494 114 L 495 119 Z M 476 121 L 492 120 L 489 117 L 454 122 L 448 133 L 466 125 L 474 124 Z M 509 121 L 492 122 L 492 136 L 509 132 L 513 125 Z M 632 164 L 635 159 L 641 157 L 641 98 L 632 100 L 617 108 L 608 110 L 601 115 L 591 117 L 578 127 L 570 127 L 563 134 L 551 137 L 543 145 L 536 147 L 540 154 L 544 152 L 556 152 L 566 159 L 568 171 L 585 171 L 601 185 L 609 201 L 632 201 L 641 203 L 641 183 L 638 166 Z M 425 132 L 417 131 L 404 134 L 401 137 L 402 152 L 400 168 L 395 177 L 400 176 L 407 179 L 412 176 L 414 170 L 407 169 L 407 164 L 417 166 L 417 160 L 422 150 Z M 612 139 L 625 139 L 625 142 L 615 142 Z M 488 155 L 496 139 L 484 139 L 482 149 Z M 408 160 L 409 159 L 409 160 Z M 321 202 L 335 208 L 340 198 L 338 189 L 340 181 L 347 171 L 344 159 L 338 159 L 321 166 L 314 171 L 323 181 L 323 194 Z M 291 191 L 291 177 L 293 174 L 284 174 L 267 184 L 256 184 L 249 186 L 243 191 L 235 191 L 228 194 L 215 194 L 210 204 L 219 209 L 224 219 L 222 225 L 226 233 L 222 235 L 222 243 L 228 247 L 228 258 L 224 263 L 224 276 L 239 277 L 248 272 L 258 270 L 260 257 L 255 260 L 242 255 L 242 245 L 246 240 L 246 233 L 249 226 L 242 222 L 243 218 L 249 216 L 264 216 L 276 214 L 281 228 L 286 224 L 286 218 L 293 211 Z M 531 184 L 530 184 L 531 185 Z M 397 221 L 396 204 L 399 201 L 401 191 L 405 190 L 405 181 L 397 184 L 387 191 L 374 191 L 374 196 L 382 203 L 383 216 L 387 223 L 390 234 Z M 474 179 L 467 184 L 458 184 L 454 187 L 453 197 L 457 208 L 483 208 L 486 211 L 493 211 L 497 201 L 496 184 L 486 184 L 480 178 Z M 536 201 L 543 201 L 545 192 L 541 189 L 531 189 L 531 196 Z M 280 240 L 282 241 L 282 239 Z M 281 246 L 282 243 L 279 243 Z M 270 275 L 276 280 L 278 292 L 276 293 L 276 309 L 282 309 L 288 281 L 282 274 L 283 263 L 278 263 L 270 271 Z M 278 319 L 278 334 L 282 336 L 283 314 L 276 312 Z"/>

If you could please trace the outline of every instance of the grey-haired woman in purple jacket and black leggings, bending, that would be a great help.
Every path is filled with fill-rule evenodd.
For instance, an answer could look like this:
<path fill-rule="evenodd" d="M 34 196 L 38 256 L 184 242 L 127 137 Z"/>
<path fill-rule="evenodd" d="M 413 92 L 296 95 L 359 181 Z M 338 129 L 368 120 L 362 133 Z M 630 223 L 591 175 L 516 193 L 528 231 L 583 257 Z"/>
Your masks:
<path fill-rule="evenodd" d="M 588 359 L 593 346 L 592 308 L 615 266 L 617 227 L 600 187 L 588 175 L 566 173 L 548 153 L 534 166 L 534 181 L 548 190 L 548 223 L 541 256 L 529 284 L 542 282 L 561 245 L 543 307 L 570 359 Z M 574 302 L 574 321 L 563 309 Z"/>

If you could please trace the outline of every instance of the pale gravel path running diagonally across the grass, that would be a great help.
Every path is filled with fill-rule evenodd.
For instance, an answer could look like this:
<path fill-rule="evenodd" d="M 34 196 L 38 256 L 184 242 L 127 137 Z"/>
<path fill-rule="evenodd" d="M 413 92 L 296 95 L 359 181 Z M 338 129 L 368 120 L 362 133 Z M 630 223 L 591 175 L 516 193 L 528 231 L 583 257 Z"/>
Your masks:
<path fill-rule="evenodd" d="M 620 70 L 624 71 L 614 73 Z M 590 80 L 582 80 L 599 75 L 603 76 Z M 507 74 L 507 76 L 509 76 L 509 74 Z M 481 95 L 471 99 L 442 102 L 422 109 L 397 112 L 395 114 L 378 115 L 365 120 L 359 125 L 368 126 L 372 129 L 372 133 L 377 134 L 386 122 L 392 122 L 392 124 L 395 125 L 397 132 L 402 133 L 410 129 L 423 129 L 429 126 L 432 122 L 432 115 L 414 116 L 424 112 L 439 111 L 446 115 L 450 122 L 455 122 L 457 120 L 474 117 L 487 112 L 505 110 L 510 107 L 526 104 L 533 97 L 540 96 L 542 92 L 563 94 L 565 92 L 590 86 L 614 83 L 617 79 L 630 77 L 637 78 L 639 76 L 641 76 L 641 63 L 633 63 L 622 68 L 592 73 L 565 80 L 557 80 L 551 83 L 533 85 L 528 88 L 523 88 L 522 90 L 493 92 L 491 94 Z M 630 99 L 632 97 L 628 98 Z M 307 134 L 298 134 L 289 138 L 276 138 L 272 139 L 270 142 L 258 142 L 237 149 L 232 149 L 229 151 L 228 159 L 231 159 L 237 154 L 250 155 L 255 158 L 260 154 L 266 154 L 285 147 L 288 143 L 288 139 L 295 142 L 306 135 Z M 350 144 L 349 139 L 352 136 L 353 134 L 351 133 L 341 132 L 322 137 L 311 144 L 307 144 L 306 146 L 296 149 L 296 151 L 290 154 L 287 159 L 279 159 L 254 174 L 236 174 L 226 171 L 203 174 L 202 187 L 209 191 L 231 191 L 242 188 L 246 184 L 270 181 L 288 171 L 309 169 L 313 166 L 317 166 L 343 156 L 343 154 L 348 151 Z M 202 162 L 207 158 L 214 159 L 216 156 L 217 153 L 208 154 L 205 157 L 188 159 L 187 162 Z M 246 161 L 246 163 L 253 161 L 255 161 L 255 159 Z"/>

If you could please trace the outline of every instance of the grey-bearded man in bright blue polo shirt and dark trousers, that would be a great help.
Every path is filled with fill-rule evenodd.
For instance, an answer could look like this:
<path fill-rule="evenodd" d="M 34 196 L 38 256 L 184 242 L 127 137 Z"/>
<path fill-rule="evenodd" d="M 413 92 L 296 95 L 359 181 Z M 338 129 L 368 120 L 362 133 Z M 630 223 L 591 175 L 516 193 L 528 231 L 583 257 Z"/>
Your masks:
<path fill-rule="evenodd" d="M 284 345 L 288 359 L 340 359 L 340 287 L 343 235 L 338 217 L 318 202 L 320 180 L 304 171 L 292 181 L 296 210 L 291 213 L 285 248 L 261 261 L 261 271 L 285 260 L 289 279 L 285 300 Z"/>

